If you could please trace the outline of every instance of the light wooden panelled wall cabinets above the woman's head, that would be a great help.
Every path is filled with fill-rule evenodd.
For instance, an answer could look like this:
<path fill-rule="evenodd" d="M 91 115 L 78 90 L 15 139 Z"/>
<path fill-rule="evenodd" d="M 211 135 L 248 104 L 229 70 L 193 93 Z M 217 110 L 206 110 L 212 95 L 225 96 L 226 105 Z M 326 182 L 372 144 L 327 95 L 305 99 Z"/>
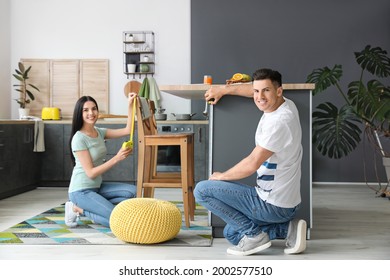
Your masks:
<path fill-rule="evenodd" d="M 30 114 L 41 117 L 43 107 L 58 107 L 62 118 L 71 118 L 79 97 L 90 95 L 100 113 L 109 113 L 109 63 L 107 59 L 21 59 L 31 66 L 29 82 L 39 88 Z"/>

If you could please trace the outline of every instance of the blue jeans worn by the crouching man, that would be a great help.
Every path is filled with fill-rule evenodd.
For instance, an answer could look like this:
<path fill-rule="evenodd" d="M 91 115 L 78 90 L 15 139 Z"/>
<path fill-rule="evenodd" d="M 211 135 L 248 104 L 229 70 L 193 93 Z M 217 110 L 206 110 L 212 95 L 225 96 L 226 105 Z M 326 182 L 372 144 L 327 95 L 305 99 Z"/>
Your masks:
<path fill-rule="evenodd" d="M 206 180 L 194 191 L 196 201 L 226 222 L 224 237 L 237 245 L 244 235 L 266 232 L 269 238 L 284 239 L 290 220 L 299 209 L 269 204 L 258 196 L 256 188 L 237 182 Z"/>

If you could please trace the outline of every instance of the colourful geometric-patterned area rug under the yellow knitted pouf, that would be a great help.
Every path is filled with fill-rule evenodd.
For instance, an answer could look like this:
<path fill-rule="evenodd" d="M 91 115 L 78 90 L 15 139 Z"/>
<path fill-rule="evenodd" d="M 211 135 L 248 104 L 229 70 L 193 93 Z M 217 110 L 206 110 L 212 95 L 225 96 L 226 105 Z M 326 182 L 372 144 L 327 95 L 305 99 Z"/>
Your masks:
<path fill-rule="evenodd" d="M 173 203 L 183 212 L 182 203 Z M 69 228 L 64 222 L 64 210 L 64 204 L 62 204 L 0 232 L 0 244 L 188 247 L 208 247 L 212 245 L 212 229 L 208 225 L 208 212 L 199 205 L 195 210 L 195 221 L 191 221 L 190 228 L 187 228 L 183 221 L 180 232 L 174 239 L 152 245 L 124 242 L 116 238 L 110 228 L 94 224 L 86 217 L 80 217 L 77 227 Z"/>

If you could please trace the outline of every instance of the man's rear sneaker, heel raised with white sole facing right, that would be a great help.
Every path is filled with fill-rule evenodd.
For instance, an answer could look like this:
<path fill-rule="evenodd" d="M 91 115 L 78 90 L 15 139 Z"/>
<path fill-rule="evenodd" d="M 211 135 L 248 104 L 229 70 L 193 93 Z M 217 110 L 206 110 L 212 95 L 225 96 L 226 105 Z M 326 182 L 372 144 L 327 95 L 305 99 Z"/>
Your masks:
<path fill-rule="evenodd" d="M 307 225 L 305 220 L 291 220 L 288 226 L 286 238 L 285 254 L 299 254 L 306 249 L 306 230 Z"/>

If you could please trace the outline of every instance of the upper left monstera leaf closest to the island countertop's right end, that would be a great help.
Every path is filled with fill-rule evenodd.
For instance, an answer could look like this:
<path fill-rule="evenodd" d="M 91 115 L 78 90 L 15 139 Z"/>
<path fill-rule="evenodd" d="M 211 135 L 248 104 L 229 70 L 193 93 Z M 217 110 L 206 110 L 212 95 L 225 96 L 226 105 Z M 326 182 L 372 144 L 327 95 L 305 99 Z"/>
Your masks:
<path fill-rule="evenodd" d="M 315 89 L 313 95 L 326 90 L 328 87 L 337 84 L 343 75 L 341 65 L 335 65 L 333 69 L 327 66 L 323 68 L 314 69 L 312 73 L 307 76 L 307 83 L 314 83 Z"/>

